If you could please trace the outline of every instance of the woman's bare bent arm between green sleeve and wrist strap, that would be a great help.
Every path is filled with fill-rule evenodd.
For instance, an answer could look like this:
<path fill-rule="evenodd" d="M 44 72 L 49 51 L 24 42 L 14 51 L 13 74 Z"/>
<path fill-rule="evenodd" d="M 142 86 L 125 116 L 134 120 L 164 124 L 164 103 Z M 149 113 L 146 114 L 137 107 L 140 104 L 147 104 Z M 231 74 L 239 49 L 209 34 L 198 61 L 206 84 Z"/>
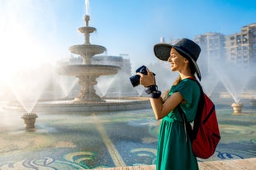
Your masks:
<path fill-rule="evenodd" d="M 164 118 L 168 113 L 170 113 L 174 108 L 178 106 L 179 103 L 183 101 L 183 96 L 179 93 L 173 93 L 166 101 L 163 103 L 161 98 L 153 99 L 150 98 L 151 107 L 154 111 L 154 116 L 157 120 Z"/>

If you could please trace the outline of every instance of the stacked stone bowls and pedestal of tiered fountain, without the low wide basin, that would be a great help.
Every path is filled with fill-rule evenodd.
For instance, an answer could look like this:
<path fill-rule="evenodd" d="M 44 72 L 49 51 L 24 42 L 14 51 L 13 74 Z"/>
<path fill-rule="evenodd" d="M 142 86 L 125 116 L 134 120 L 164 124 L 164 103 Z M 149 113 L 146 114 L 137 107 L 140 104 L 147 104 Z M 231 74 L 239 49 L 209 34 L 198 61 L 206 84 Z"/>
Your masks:
<path fill-rule="evenodd" d="M 80 27 L 78 29 L 81 33 L 84 34 L 84 44 L 73 45 L 69 48 L 71 53 L 78 54 L 83 57 L 83 64 L 59 67 L 59 75 L 78 77 L 81 90 L 73 102 L 104 102 L 105 100 L 101 99 L 96 94 L 93 86 L 97 85 L 97 77 L 116 74 L 119 70 L 119 67 L 110 65 L 93 65 L 91 63 L 92 57 L 96 54 L 104 53 L 106 48 L 100 45 L 90 44 L 90 34 L 96 29 L 94 27 L 90 27 L 88 24 L 90 16 L 85 15 L 84 20 L 86 22 L 86 26 Z"/>

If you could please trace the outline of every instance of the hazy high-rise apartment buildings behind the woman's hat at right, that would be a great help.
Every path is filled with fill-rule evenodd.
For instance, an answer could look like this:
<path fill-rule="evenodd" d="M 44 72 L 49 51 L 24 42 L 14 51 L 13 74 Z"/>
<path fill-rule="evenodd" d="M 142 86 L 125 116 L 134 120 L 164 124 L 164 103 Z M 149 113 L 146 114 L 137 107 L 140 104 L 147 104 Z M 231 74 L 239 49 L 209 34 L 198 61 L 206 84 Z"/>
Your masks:
<path fill-rule="evenodd" d="M 168 43 L 175 44 L 178 40 Z M 199 34 L 193 40 L 201 47 L 197 62 L 204 74 L 214 69 L 215 62 L 233 62 L 242 67 L 254 67 L 256 64 L 256 23 L 243 26 L 239 33 Z M 164 43 L 164 38 L 160 41 Z"/>

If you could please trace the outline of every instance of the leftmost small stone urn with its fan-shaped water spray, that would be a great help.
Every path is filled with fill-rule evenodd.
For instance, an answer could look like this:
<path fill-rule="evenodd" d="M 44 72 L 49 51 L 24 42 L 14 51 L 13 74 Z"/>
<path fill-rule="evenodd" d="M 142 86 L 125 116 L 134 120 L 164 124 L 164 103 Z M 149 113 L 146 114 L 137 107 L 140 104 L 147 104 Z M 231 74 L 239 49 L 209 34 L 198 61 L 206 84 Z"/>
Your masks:
<path fill-rule="evenodd" d="M 40 76 L 38 76 L 40 74 Z M 48 69 L 42 73 L 41 68 L 17 71 L 10 76 L 9 88 L 16 96 L 21 108 L 25 110 L 23 118 L 26 129 L 35 127 L 36 113 L 32 113 L 41 94 L 49 85 L 51 71 Z"/>

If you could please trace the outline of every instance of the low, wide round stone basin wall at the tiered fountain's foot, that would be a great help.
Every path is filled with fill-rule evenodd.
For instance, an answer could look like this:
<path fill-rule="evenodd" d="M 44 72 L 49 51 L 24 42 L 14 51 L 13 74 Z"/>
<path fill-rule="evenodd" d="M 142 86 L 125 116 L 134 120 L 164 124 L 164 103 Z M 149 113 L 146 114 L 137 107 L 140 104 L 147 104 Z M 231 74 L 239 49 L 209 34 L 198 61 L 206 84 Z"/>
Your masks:
<path fill-rule="evenodd" d="M 78 102 L 75 100 L 40 101 L 33 112 L 36 113 L 92 113 L 116 112 L 151 108 L 149 98 L 130 97 L 121 99 L 104 99 L 104 102 Z M 24 111 L 19 103 L 8 103 L 4 109 Z"/>

